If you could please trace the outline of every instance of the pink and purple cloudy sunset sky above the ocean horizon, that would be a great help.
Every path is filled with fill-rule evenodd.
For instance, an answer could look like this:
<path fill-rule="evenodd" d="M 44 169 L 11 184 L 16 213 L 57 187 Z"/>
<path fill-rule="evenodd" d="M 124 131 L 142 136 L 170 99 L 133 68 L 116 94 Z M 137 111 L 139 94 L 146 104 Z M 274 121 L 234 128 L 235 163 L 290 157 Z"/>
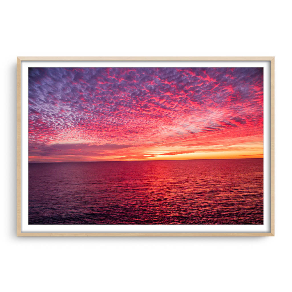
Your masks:
<path fill-rule="evenodd" d="M 29 162 L 263 157 L 263 68 L 29 68 Z"/>

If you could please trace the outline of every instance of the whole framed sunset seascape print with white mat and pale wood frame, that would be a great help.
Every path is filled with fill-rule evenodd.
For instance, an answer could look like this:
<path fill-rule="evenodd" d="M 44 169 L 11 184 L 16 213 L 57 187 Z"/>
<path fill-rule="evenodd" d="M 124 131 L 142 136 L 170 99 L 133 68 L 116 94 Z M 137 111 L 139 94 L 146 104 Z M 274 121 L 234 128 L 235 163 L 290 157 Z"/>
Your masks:
<path fill-rule="evenodd" d="M 18 57 L 18 236 L 274 236 L 274 57 Z"/>

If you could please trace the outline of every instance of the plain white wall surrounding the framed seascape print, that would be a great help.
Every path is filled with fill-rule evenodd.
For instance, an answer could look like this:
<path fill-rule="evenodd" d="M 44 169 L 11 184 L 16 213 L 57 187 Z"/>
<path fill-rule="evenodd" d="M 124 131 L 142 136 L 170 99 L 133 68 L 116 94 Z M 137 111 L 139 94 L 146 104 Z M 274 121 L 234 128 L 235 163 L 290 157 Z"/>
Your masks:
<path fill-rule="evenodd" d="M 3 291 L 289 289 L 291 3 L 4 1 L 0 22 Z M 275 55 L 276 236 L 16 237 L 17 55 Z"/>

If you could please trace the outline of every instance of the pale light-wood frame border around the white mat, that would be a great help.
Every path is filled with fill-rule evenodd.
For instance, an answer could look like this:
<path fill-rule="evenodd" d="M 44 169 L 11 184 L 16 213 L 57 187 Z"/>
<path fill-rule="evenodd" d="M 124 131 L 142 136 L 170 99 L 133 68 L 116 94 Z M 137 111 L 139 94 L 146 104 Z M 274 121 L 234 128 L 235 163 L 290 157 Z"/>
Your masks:
<path fill-rule="evenodd" d="M 270 61 L 271 210 L 270 232 L 21 232 L 21 62 L 22 61 Z M 17 57 L 17 236 L 274 236 L 274 57 Z"/>

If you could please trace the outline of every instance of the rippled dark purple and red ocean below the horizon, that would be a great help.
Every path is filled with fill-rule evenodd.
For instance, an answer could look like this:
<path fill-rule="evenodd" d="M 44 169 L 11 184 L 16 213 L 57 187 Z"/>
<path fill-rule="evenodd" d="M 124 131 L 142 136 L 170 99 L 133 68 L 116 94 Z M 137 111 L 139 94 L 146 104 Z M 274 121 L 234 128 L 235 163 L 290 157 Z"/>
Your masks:
<path fill-rule="evenodd" d="M 29 224 L 263 224 L 263 159 L 30 163 Z"/>

